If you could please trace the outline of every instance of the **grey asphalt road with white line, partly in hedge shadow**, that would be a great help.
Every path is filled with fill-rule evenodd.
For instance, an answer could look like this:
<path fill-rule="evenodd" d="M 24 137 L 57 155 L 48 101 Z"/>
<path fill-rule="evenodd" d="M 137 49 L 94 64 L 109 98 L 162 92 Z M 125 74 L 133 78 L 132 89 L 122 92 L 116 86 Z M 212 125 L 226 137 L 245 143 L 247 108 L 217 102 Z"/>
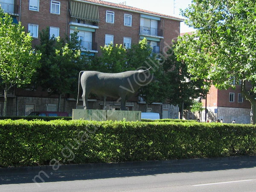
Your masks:
<path fill-rule="evenodd" d="M 47 174 L 47 175 L 46 175 Z M 256 161 L 0 175 L 0 192 L 255 192 Z M 49 177 L 49 178 L 48 178 Z M 32 179 L 35 178 L 34 183 Z"/>

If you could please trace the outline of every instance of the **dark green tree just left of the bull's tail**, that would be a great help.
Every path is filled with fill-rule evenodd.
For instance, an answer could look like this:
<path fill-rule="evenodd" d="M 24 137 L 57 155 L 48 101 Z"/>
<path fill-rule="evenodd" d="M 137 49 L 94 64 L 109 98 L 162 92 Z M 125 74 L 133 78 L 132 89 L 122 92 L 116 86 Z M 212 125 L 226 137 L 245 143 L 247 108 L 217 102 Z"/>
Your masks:
<path fill-rule="evenodd" d="M 76 94 L 79 72 L 90 68 L 87 58 L 81 55 L 77 33 L 75 31 L 66 39 L 49 38 L 47 27 L 40 32 L 41 44 L 36 47 L 42 52 L 37 83 L 50 89 L 51 94 L 58 94 L 58 111 L 61 109 L 61 96 Z"/>

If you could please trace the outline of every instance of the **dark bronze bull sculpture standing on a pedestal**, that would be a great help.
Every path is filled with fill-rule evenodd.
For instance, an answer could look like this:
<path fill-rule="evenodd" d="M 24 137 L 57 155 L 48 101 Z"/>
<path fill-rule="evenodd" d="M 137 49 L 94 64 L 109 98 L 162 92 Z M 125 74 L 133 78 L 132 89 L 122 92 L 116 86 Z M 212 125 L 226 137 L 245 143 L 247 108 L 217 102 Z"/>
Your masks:
<path fill-rule="evenodd" d="M 150 69 L 150 68 L 149 68 Z M 80 71 L 81 87 L 83 89 L 82 100 L 84 109 L 88 108 L 88 96 L 94 93 L 97 96 L 109 96 L 120 98 L 121 110 L 126 111 L 126 100 L 129 99 L 141 86 L 149 84 L 153 79 L 147 70 L 126 71 L 122 73 L 101 73 L 97 71 Z M 79 86 L 77 103 L 79 101 Z"/>

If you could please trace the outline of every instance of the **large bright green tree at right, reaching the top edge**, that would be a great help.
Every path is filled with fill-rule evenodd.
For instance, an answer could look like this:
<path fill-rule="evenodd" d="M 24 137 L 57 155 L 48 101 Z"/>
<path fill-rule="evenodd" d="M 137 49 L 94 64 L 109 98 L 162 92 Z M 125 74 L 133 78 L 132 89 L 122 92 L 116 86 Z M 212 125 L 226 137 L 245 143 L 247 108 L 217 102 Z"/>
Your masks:
<path fill-rule="evenodd" d="M 219 89 L 235 87 L 250 101 L 256 123 L 256 4 L 252 0 L 193 0 L 183 12 L 194 35 L 178 39 L 176 54 L 196 78 Z M 248 86 L 249 85 L 249 86 Z"/>

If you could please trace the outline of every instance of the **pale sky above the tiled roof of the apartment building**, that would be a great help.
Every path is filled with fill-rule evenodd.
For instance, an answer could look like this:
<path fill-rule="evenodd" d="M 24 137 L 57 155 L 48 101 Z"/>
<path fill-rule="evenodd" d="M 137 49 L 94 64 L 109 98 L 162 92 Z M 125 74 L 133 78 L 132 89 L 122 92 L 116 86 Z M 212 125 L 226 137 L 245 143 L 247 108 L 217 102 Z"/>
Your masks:
<path fill-rule="evenodd" d="M 127 6 L 132 6 L 148 11 L 171 15 L 183 18 L 180 15 L 180 9 L 184 10 L 191 4 L 192 0 L 105 0 L 112 3 L 122 3 L 126 1 Z M 174 8 L 175 1 L 175 8 Z M 180 23 L 180 32 L 191 32 L 193 28 L 189 28 L 184 22 Z"/>

